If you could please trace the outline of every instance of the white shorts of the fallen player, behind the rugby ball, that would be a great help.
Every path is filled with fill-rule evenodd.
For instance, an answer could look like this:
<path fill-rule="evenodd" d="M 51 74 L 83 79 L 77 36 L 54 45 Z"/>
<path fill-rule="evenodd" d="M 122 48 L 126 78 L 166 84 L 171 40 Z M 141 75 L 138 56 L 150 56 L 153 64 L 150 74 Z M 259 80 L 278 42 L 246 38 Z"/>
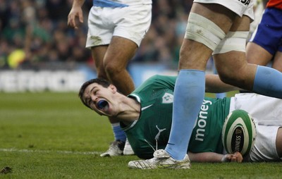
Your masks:
<path fill-rule="evenodd" d="M 276 152 L 277 130 L 282 126 L 282 100 L 254 93 L 235 94 L 230 111 L 243 109 L 250 113 L 257 126 L 257 139 L 250 152 L 250 161 L 279 161 Z"/>

